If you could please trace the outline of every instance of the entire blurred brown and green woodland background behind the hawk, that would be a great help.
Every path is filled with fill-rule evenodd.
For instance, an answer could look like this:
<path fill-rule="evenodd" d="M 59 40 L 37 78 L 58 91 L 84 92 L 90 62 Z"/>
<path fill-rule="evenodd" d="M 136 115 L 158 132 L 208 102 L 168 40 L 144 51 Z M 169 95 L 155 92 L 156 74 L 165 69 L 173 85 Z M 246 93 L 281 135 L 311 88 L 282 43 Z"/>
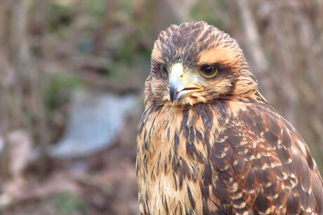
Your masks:
<path fill-rule="evenodd" d="M 193 20 L 239 41 L 323 168 L 322 0 L 1 0 L 1 214 L 138 214 L 150 53 Z"/>

